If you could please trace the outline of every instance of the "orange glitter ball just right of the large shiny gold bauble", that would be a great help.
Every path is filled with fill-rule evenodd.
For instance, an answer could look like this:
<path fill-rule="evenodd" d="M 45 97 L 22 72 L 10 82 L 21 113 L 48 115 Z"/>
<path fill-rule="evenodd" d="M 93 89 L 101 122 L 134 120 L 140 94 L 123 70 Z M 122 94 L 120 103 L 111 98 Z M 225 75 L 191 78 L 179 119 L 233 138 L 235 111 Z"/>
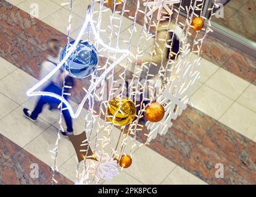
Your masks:
<path fill-rule="evenodd" d="M 163 105 L 157 102 L 149 103 L 145 108 L 145 117 L 152 123 L 157 123 L 163 119 L 165 115 L 165 109 Z"/>

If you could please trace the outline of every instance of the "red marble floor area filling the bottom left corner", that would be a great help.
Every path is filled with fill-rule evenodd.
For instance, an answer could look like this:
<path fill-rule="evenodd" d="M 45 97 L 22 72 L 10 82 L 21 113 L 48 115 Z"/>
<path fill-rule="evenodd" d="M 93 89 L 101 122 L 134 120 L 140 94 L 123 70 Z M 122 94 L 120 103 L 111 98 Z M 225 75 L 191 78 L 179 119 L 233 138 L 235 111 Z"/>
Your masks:
<path fill-rule="evenodd" d="M 50 185 L 51 167 L 0 134 L 0 185 Z M 38 178 L 30 176 L 31 164 L 38 164 Z M 57 184 L 71 185 L 73 182 L 57 173 Z"/>

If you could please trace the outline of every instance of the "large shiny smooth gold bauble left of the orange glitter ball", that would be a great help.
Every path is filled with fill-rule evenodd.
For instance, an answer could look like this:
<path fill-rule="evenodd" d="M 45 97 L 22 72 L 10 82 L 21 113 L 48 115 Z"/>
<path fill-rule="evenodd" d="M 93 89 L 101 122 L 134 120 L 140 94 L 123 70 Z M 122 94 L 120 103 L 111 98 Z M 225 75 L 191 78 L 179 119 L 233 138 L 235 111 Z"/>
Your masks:
<path fill-rule="evenodd" d="M 112 123 L 125 126 L 130 124 L 135 118 L 136 107 L 130 98 L 114 98 L 109 101 L 107 115 L 109 121 Z"/>

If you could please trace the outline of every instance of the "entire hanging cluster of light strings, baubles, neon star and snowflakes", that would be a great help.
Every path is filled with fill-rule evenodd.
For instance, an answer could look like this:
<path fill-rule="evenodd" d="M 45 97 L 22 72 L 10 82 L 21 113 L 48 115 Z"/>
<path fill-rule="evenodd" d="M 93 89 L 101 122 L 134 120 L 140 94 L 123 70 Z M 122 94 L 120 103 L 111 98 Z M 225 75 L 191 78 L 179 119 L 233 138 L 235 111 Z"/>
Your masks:
<path fill-rule="evenodd" d="M 72 0 L 70 0 L 70 2 L 71 14 L 68 20 L 68 31 L 70 31 L 72 27 Z M 105 5 L 112 8 L 112 13 L 109 12 L 111 13 L 109 21 L 105 20 L 102 22 L 102 13 L 109 10 L 104 8 L 105 2 L 107 3 Z M 204 38 L 210 31 L 210 28 L 208 28 L 210 23 L 207 23 L 207 25 L 205 25 L 206 28 L 204 29 L 204 20 L 202 17 L 196 17 L 192 22 L 190 22 L 190 19 L 194 17 L 194 13 L 197 13 L 195 11 L 202 12 L 202 10 L 204 10 L 202 0 L 191 0 L 191 4 L 188 7 L 182 7 L 181 4 L 180 7 L 178 7 L 178 5 L 173 7 L 173 4 L 180 3 L 180 0 L 144 1 L 144 6 L 146 6 L 144 7 L 144 10 L 140 1 L 137 2 L 137 7 L 136 2 L 133 2 L 133 6 L 131 4 L 126 4 L 126 2 L 128 1 L 101 0 L 100 6 L 95 6 L 94 4 L 97 4 L 97 1 L 91 0 L 86 13 L 85 23 L 78 34 L 78 38 L 76 38 L 75 41 L 69 42 L 67 46 L 64 47 L 60 58 L 61 61 L 56 68 L 27 91 L 27 95 L 30 97 L 45 95 L 59 99 L 60 102 L 64 103 L 66 106 L 66 108 L 62 110 L 68 110 L 72 118 L 78 118 L 85 103 L 88 103 L 88 105 L 86 105 L 86 107 L 88 107 L 86 108 L 88 112 L 85 117 L 86 124 L 84 132 L 80 135 L 68 135 L 68 138 L 75 148 L 78 164 L 83 164 L 83 172 L 81 174 L 78 173 L 76 176 L 78 179 L 74 181 L 77 184 L 90 184 L 94 182 L 102 183 L 104 180 L 111 181 L 113 177 L 118 175 L 118 171 L 120 171 L 118 165 L 122 168 L 130 167 L 132 162 L 134 162 L 131 159 L 134 147 L 138 148 L 141 147 L 141 145 L 146 145 L 151 142 L 152 139 L 155 139 L 158 134 L 165 135 L 168 132 L 168 129 L 173 124 L 171 123 L 173 119 L 176 119 L 181 115 L 183 110 L 186 109 L 189 98 L 191 97 L 191 89 L 194 88 L 199 79 L 198 69 L 200 58 L 198 57 L 194 62 L 191 62 L 189 57 L 194 54 L 200 54 Z M 96 10 L 97 7 L 99 7 L 99 10 Z M 211 9 L 211 16 L 213 15 L 213 8 L 214 6 Z M 134 12 L 131 14 L 129 9 L 133 9 Z M 157 18 L 152 17 L 157 10 Z M 176 12 L 175 15 L 172 13 L 172 10 L 173 12 Z M 186 12 L 185 14 L 187 14 L 187 17 L 182 17 L 180 10 Z M 93 20 L 95 11 L 99 13 L 99 18 L 98 20 L 96 19 L 97 26 L 94 26 Z M 166 15 L 163 16 L 162 13 L 165 11 L 167 11 L 169 15 L 173 15 L 171 17 L 166 17 Z M 144 17 L 139 18 L 140 20 L 137 18 L 138 13 L 140 15 L 144 14 Z M 128 44 L 127 48 L 119 49 L 118 45 L 120 42 L 118 41 L 120 32 L 122 32 L 123 28 L 122 22 L 125 22 L 123 17 L 126 17 L 126 15 L 129 15 L 129 18 L 133 20 L 133 25 L 130 25 L 127 31 L 130 33 L 130 39 L 123 40 L 123 42 Z M 202 13 L 200 16 L 202 16 Z M 131 92 L 128 92 L 129 96 L 127 97 L 133 98 L 134 102 L 136 101 L 136 104 L 139 100 L 136 100 L 136 98 L 133 97 L 134 95 L 143 95 L 143 100 L 149 101 L 154 100 L 155 97 L 157 98 L 155 102 L 149 103 L 149 105 L 144 108 L 143 103 L 141 105 L 135 105 L 130 98 L 122 98 L 122 96 L 125 95 L 124 87 L 127 82 L 126 75 L 128 74 L 128 64 L 136 63 L 137 60 L 141 60 L 145 54 L 144 49 L 149 48 L 149 46 L 147 46 L 149 40 L 157 38 L 157 31 L 154 31 L 159 30 L 160 26 L 163 30 L 163 34 L 165 32 L 167 35 L 170 33 L 170 30 L 168 29 L 168 25 L 170 24 L 167 22 L 165 25 L 162 25 L 162 21 L 166 22 L 167 19 L 169 19 L 169 23 L 175 23 L 173 32 L 176 34 L 176 31 L 179 31 L 182 34 L 182 36 L 177 36 L 176 39 L 175 36 L 163 36 L 161 39 L 155 40 L 155 46 L 164 46 L 163 49 L 159 49 L 160 55 L 166 54 L 164 57 L 162 55 L 162 59 L 165 58 L 165 60 L 168 59 L 168 61 L 160 62 L 160 65 L 154 62 L 149 62 L 148 65 L 136 65 L 134 73 L 132 74 L 134 82 L 132 86 L 134 87 Z M 102 30 L 101 23 L 107 22 L 109 22 L 109 24 L 104 24 L 104 26 L 108 26 L 108 29 Z M 137 50 L 134 53 L 131 51 L 131 43 L 134 41 L 134 32 L 140 31 L 137 22 L 141 23 L 142 30 L 139 36 L 136 37 L 136 42 L 133 43 L 135 45 L 138 44 L 138 46 L 136 46 Z M 202 30 L 202 34 L 198 34 L 193 42 L 189 42 L 192 43 L 192 46 L 189 46 L 188 44 L 188 39 L 191 39 L 192 37 L 190 36 L 190 38 L 188 38 L 189 27 L 192 27 L 196 31 Z M 89 31 L 88 40 L 81 41 L 81 37 L 86 30 Z M 117 38 L 116 47 L 110 47 L 112 46 L 111 43 L 107 45 L 101 39 L 102 34 L 106 34 L 106 32 L 110 42 L 114 37 Z M 202 37 L 199 38 L 199 36 Z M 91 40 L 92 37 L 95 38 L 94 41 Z M 176 45 L 175 42 L 177 43 Z M 159 43 L 162 44 L 159 45 Z M 174 48 L 177 50 L 174 50 Z M 101 54 L 101 52 L 105 52 L 106 50 L 107 53 L 104 55 Z M 165 50 L 168 50 L 168 52 L 166 53 Z M 154 55 L 155 53 L 156 50 L 154 47 L 149 54 Z M 105 65 L 102 60 L 103 58 L 99 59 L 102 56 L 105 56 L 107 59 L 105 60 Z M 100 65 L 98 65 L 99 61 L 101 62 Z M 126 62 L 126 65 L 123 66 L 122 71 L 119 70 L 120 73 L 117 73 L 114 68 L 121 62 Z M 156 83 L 155 86 L 149 87 L 150 94 L 147 95 L 144 94 L 145 85 L 143 82 L 139 81 L 139 79 L 142 76 L 142 71 L 145 68 L 149 70 L 151 65 L 154 65 L 155 69 L 158 70 L 157 78 L 161 78 L 161 80 L 159 83 Z M 63 95 L 59 96 L 52 92 L 36 91 L 36 89 L 41 87 L 54 73 L 64 66 L 67 68 L 67 71 L 70 72 L 70 75 L 75 78 L 86 78 L 91 76 L 90 86 L 88 89 L 84 88 L 86 92 L 85 97 L 81 98 L 81 102 L 78 103 L 79 105 L 76 111 L 73 111 L 70 103 L 68 100 L 65 100 Z M 149 75 L 150 74 L 146 72 L 146 75 L 143 76 L 143 78 L 146 79 L 145 81 L 147 81 Z M 115 87 L 114 84 L 118 79 L 122 80 L 121 87 L 118 87 L 122 89 L 122 94 L 118 95 L 117 98 L 110 99 L 112 95 L 117 95 L 115 94 L 117 93 L 115 91 L 118 88 Z M 109 91 L 97 91 L 100 88 L 102 90 L 107 89 L 104 81 L 110 83 L 110 86 L 108 87 Z M 71 88 L 67 87 L 65 84 L 64 87 Z M 96 99 L 97 105 L 94 105 Z M 136 108 L 138 113 L 136 113 Z M 141 113 L 139 113 L 140 111 Z M 143 113 L 148 120 L 146 125 L 139 122 Z M 59 121 L 60 131 L 63 131 L 63 128 L 61 127 L 61 118 L 62 116 L 60 116 Z M 123 130 L 120 131 L 120 127 L 115 127 L 114 125 L 121 126 Z M 138 132 L 141 132 L 145 126 L 148 131 L 148 134 L 146 135 L 147 141 L 145 143 L 135 142 L 136 136 L 138 137 Z M 120 132 L 120 135 L 118 142 L 116 143 L 115 141 L 113 143 L 112 139 L 116 129 L 117 133 Z M 88 138 L 86 137 L 86 134 L 88 135 Z M 131 135 L 132 137 L 130 137 Z M 60 134 L 58 134 L 57 142 L 59 139 Z M 128 143 L 128 139 L 133 139 L 129 141 L 132 143 L 131 146 L 130 143 Z M 56 156 L 54 159 L 57 158 L 57 155 L 60 155 L 57 154 L 57 142 L 56 147 L 51 151 Z M 111 151 L 111 153 L 109 153 L 109 151 Z M 125 153 L 129 154 L 126 155 Z M 54 162 L 54 167 L 52 167 L 52 169 L 54 169 L 54 172 L 57 171 L 56 162 Z M 52 180 L 54 180 L 54 174 Z"/>

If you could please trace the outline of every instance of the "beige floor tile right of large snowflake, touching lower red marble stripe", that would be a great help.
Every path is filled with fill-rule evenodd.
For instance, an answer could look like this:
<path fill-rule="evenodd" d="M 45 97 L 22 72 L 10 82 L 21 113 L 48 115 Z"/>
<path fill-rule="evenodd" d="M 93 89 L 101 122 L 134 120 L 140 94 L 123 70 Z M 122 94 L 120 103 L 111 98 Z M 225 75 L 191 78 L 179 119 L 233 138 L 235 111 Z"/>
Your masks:
<path fill-rule="evenodd" d="M 192 95 L 191 102 L 193 107 L 214 119 L 219 119 L 233 103 L 231 99 L 205 85 Z"/>

